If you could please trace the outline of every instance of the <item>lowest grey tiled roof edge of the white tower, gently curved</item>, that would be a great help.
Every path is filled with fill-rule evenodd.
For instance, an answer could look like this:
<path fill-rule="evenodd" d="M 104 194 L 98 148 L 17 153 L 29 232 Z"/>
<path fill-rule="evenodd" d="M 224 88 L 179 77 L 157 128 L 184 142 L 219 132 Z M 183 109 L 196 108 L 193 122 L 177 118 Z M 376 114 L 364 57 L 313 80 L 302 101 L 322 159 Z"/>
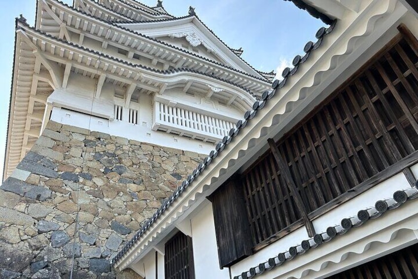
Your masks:
<path fill-rule="evenodd" d="M 18 21 L 20 21 L 20 20 L 18 19 Z M 109 55 L 107 55 L 107 54 L 105 54 L 103 52 L 100 52 L 100 51 L 97 51 L 97 50 L 93 50 L 93 49 L 84 47 L 82 45 L 79 45 L 79 44 L 76 44 L 76 43 L 73 43 L 73 42 L 70 42 L 70 41 L 67 41 L 67 40 L 59 39 L 59 38 L 54 37 L 54 36 L 52 36 L 52 35 L 50 35 L 48 33 L 45 33 L 43 31 L 40 31 L 40 30 L 35 29 L 34 27 L 28 25 L 26 22 L 23 22 L 23 21 L 20 21 L 20 22 L 22 22 L 23 24 L 25 24 L 28 28 L 32 29 L 36 33 L 42 34 L 44 36 L 47 36 L 47 37 L 49 37 L 49 38 L 51 38 L 53 40 L 58 40 L 58 41 L 64 42 L 64 43 L 69 44 L 71 46 L 78 47 L 80 49 L 89 51 L 91 53 L 100 55 L 101 57 L 106 57 L 108 59 L 111 59 L 111 60 L 114 60 L 114 61 L 117 61 L 117 62 L 126 64 L 126 65 L 129 65 L 129 66 L 132 66 L 132 67 L 138 67 L 138 68 L 141 68 L 141 69 L 144 69 L 144 70 L 148 70 L 148 71 L 151 71 L 151 72 L 154 72 L 154 73 L 158 73 L 158 74 L 172 74 L 172 73 L 175 73 L 175 72 L 195 73 L 195 74 L 199 74 L 199 75 L 202 75 L 202 76 L 206 76 L 206 77 L 209 77 L 209 78 L 212 78 L 212 79 L 215 79 L 215 80 L 220 80 L 222 82 L 226 82 L 228 84 L 234 85 L 234 86 L 236 86 L 236 87 L 238 87 L 238 88 L 246 91 L 247 93 L 251 94 L 251 96 L 253 96 L 254 98 L 257 98 L 256 95 L 250 89 L 248 89 L 248 88 L 246 88 L 246 87 L 244 87 L 242 85 L 236 84 L 234 82 L 231 82 L 229 80 L 221 79 L 221 78 L 218 78 L 218 77 L 215 77 L 215 76 L 212 76 L 212 75 L 203 73 L 203 72 L 199 72 L 199 71 L 196 71 L 196 70 L 193 70 L 193 69 L 189 69 L 189 68 L 184 68 L 184 67 L 183 68 L 177 68 L 177 69 L 171 69 L 171 70 L 157 70 L 157 69 L 154 69 L 154 68 L 151 68 L 151 67 L 147 67 L 147 66 L 144 66 L 144 65 L 141 65 L 141 64 L 131 63 L 131 62 L 128 62 L 126 60 L 122 60 L 122 59 L 119 59 L 119 58 L 116 58 L 116 57 L 113 57 L 113 56 L 109 56 Z"/>

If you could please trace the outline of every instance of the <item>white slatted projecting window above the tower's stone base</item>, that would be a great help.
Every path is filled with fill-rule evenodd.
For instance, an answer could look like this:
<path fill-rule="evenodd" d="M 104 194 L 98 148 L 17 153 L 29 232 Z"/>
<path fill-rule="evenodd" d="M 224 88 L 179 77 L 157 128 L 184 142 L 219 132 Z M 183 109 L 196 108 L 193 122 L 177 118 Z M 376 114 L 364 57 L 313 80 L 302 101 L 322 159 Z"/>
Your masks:
<path fill-rule="evenodd" d="M 218 142 L 235 124 L 202 113 L 154 102 L 152 129 L 207 142 Z"/>

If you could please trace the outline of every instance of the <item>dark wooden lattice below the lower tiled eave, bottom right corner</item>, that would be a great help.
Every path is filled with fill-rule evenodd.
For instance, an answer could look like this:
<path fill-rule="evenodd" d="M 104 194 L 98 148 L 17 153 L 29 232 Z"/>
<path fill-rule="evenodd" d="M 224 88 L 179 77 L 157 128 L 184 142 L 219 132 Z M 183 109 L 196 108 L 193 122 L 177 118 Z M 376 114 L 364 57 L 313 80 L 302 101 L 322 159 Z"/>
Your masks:
<path fill-rule="evenodd" d="M 354 267 L 328 279 L 418 278 L 418 244 Z"/>

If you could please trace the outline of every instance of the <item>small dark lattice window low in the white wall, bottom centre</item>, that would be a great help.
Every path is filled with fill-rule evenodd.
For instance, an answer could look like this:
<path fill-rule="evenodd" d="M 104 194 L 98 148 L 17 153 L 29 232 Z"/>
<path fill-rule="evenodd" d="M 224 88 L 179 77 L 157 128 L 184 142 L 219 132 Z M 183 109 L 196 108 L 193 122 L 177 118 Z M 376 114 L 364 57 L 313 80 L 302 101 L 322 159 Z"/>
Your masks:
<path fill-rule="evenodd" d="M 165 278 L 194 279 L 192 239 L 183 233 L 177 233 L 166 243 Z"/>

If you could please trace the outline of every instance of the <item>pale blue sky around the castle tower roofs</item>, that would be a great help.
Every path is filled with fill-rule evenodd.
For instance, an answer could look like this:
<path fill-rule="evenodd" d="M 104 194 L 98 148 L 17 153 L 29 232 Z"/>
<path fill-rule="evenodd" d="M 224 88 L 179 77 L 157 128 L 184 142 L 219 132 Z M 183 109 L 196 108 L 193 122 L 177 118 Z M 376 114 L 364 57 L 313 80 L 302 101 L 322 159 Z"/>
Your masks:
<path fill-rule="evenodd" d="M 64 0 L 72 4 L 72 0 Z M 155 6 L 157 0 L 144 0 Z M 324 24 L 283 0 L 164 0 L 174 16 L 187 15 L 190 5 L 199 18 L 232 48 L 243 47 L 243 58 L 258 70 L 284 68 L 296 54 L 303 53 Z M 23 14 L 35 21 L 36 0 L 0 0 L 0 173 L 3 173 L 8 103 L 13 65 L 14 22 Z"/>

